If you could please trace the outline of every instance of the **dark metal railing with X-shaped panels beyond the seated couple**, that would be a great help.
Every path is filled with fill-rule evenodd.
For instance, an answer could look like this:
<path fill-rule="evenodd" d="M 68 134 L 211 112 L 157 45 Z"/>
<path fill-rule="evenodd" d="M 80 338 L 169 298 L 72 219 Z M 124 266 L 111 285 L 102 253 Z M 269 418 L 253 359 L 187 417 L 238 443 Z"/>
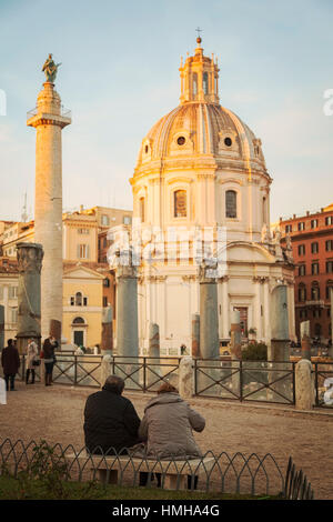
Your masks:
<path fill-rule="evenodd" d="M 74 387 L 100 388 L 102 355 L 75 355 L 58 352 L 53 382 Z M 161 382 L 178 385 L 181 358 L 129 358 L 110 355 L 113 374 L 124 379 L 128 390 L 155 392 Z M 286 361 L 238 361 L 226 359 L 193 359 L 194 395 L 295 404 L 295 365 Z M 333 363 L 313 362 L 315 405 L 333 408 Z M 26 357 L 21 358 L 19 375 L 24 380 Z M 41 367 L 36 367 L 36 380 L 41 380 Z"/>

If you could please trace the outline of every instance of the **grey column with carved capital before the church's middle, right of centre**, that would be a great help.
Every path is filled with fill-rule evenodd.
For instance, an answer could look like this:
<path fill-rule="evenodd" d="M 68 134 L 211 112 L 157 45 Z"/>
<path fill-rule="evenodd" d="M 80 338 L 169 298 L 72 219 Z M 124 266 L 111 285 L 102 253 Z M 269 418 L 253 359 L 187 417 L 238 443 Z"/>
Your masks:
<path fill-rule="evenodd" d="M 214 270 L 202 264 L 199 273 L 200 284 L 200 352 L 203 359 L 220 355 L 218 284 Z"/>

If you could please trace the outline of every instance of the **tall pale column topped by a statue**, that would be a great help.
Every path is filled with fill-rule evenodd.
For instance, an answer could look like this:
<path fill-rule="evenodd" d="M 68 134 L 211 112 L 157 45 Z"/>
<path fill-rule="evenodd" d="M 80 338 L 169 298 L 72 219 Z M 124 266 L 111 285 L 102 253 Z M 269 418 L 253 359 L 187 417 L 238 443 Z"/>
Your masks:
<path fill-rule="evenodd" d="M 71 123 L 54 90 L 59 64 L 49 54 L 42 70 L 47 81 L 37 98 L 37 108 L 28 112 L 27 126 L 37 130 L 34 241 L 41 243 L 44 258 L 41 271 L 41 335 L 50 333 L 51 321 L 62 321 L 62 152 L 61 131 Z M 61 332 L 54 337 L 60 340 Z"/>

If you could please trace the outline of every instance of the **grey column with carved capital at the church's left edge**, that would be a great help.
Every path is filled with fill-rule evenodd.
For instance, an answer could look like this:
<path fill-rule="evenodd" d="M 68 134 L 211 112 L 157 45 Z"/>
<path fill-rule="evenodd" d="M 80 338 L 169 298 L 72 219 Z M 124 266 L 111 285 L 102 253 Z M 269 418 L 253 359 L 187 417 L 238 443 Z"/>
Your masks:
<path fill-rule="evenodd" d="M 139 357 L 138 277 L 131 261 L 117 268 L 117 353 Z"/>

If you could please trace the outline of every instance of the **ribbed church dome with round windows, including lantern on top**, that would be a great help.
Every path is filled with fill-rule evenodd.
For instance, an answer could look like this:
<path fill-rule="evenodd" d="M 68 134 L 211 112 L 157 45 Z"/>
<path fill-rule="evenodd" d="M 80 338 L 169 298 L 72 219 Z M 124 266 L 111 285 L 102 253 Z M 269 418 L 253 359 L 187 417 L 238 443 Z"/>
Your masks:
<path fill-rule="evenodd" d="M 200 40 L 201 41 L 201 40 Z M 137 173 L 161 160 L 191 159 L 266 172 L 261 140 L 232 111 L 220 106 L 219 69 L 195 49 L 181 64 L 180 106 L 161 118 L 142 140 Z M 183 161 L 182 161 L 183 160 Z"/>

